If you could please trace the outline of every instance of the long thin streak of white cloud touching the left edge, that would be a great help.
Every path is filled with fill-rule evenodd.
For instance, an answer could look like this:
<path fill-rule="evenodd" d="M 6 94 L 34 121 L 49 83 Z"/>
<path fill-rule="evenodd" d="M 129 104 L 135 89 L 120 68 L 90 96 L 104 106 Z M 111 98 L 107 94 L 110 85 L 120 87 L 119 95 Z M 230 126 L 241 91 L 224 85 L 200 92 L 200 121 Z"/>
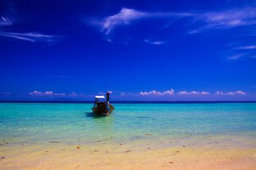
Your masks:
<path fill-rule="evenodd" d="M 58 36 L 54 35 L 44 35 L 41 33 L 10 33 L 10 32 L 0 32 L 0 36 L 15 38 L 19 40 L 26 40 L 29 42 L 38 42 L 38 41 L 45 41 L 45 42 L 54 42 Z"/>

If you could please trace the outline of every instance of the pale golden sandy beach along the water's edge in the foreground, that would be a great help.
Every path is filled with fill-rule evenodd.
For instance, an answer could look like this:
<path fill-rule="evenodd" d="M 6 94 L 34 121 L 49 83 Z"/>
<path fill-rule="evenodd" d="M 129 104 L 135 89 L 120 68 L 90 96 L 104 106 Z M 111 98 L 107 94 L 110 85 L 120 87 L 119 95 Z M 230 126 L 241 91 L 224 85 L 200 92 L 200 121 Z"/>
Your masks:
<path fill-rule="evenodd" d="M 56 143 L 1 148 L 0 169 L 255 169 L 256 149 L 187 146 L 133 150 Z M 131 149 L 131 150 L 129 150 Z"/>

